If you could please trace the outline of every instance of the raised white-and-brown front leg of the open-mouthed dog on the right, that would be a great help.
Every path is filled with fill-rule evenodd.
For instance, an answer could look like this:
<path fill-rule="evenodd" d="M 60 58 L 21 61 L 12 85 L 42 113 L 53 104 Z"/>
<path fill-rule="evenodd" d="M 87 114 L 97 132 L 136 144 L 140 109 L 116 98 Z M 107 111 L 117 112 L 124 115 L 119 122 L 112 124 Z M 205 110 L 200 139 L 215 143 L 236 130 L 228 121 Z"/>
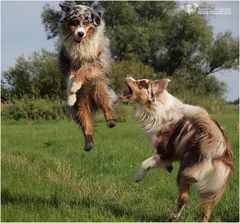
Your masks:
<path fill-rule="evenodd" d="M 154 167 L 167 168 L 169 165 L 171 165 L 171 162 L 167 160 L 162 160 L 158 154 L 155 154 L 142 162 L 140 168 L 138 169 L 137 173 L 133 177 L 133 181 L 139 182 L 143 180 L 147 171 Z"/>

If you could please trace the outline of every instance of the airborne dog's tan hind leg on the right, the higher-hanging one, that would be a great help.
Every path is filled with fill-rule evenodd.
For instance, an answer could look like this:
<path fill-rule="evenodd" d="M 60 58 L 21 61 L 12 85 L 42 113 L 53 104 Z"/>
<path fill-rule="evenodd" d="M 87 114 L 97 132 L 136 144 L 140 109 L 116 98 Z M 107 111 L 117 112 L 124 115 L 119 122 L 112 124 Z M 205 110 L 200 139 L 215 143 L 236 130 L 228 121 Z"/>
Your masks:
<path fill-rule="evenodd" d="M 107 126 L 113 128 L 116 123 L 114 121 L 114 112 L 112 108 L 111 98 L 107 92 L 107 86 L 104 81 L 100 81 L 96 84 L 94 89 L 94 100 L 97 106 L 103 111 Z"/>

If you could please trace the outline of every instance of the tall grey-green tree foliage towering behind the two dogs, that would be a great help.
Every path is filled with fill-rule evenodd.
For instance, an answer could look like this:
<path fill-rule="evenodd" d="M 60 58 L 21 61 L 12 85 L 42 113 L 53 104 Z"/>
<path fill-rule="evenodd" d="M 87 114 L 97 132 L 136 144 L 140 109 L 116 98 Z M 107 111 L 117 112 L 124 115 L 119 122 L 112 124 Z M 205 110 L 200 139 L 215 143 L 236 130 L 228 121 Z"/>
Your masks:
<path fill-rule="evenodd" d="M 214 38 L 206 17 L 178 10 L 176 2 L 103 1 L 100 4 L 105 8 L 104 19 L 116 60 L 134 56 L 155 71 L 171 76 L 179 69 L 186 69 L 193 76 L 237 67 L 238 38 L 230 33 Z M 42 22 L 49 38 L 57 36 L 59 17 L 60 10 L 54 11 L 49 5 L 44 8 Z"/>

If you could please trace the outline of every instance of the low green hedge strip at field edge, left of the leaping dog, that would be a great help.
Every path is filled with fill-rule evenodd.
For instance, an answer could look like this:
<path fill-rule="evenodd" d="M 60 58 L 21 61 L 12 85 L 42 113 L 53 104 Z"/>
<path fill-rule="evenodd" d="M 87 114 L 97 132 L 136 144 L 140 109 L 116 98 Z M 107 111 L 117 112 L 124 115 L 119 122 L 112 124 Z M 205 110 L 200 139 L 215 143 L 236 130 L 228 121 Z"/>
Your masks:
<path fill-rule="evenodd" d="M 2 104 L 3 119 L 61 120 L 67 118 L 59 100 L 21 99 Z"/>

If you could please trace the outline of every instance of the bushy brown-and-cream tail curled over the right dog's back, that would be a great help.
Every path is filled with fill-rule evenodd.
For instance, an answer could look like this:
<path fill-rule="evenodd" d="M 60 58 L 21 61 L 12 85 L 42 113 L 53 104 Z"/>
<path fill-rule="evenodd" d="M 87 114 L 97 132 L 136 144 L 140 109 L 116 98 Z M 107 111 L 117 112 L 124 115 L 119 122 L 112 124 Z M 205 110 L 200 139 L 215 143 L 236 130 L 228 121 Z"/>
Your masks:
<path fill-rule="evenodd" d="M 182 114 L 189 119 L 197 131 L 196 143 L 201 153 L 210 159 L 220 157 L 226 151 L 226 144 L 221 126 L 201 107 L 184 105 Z"/>

